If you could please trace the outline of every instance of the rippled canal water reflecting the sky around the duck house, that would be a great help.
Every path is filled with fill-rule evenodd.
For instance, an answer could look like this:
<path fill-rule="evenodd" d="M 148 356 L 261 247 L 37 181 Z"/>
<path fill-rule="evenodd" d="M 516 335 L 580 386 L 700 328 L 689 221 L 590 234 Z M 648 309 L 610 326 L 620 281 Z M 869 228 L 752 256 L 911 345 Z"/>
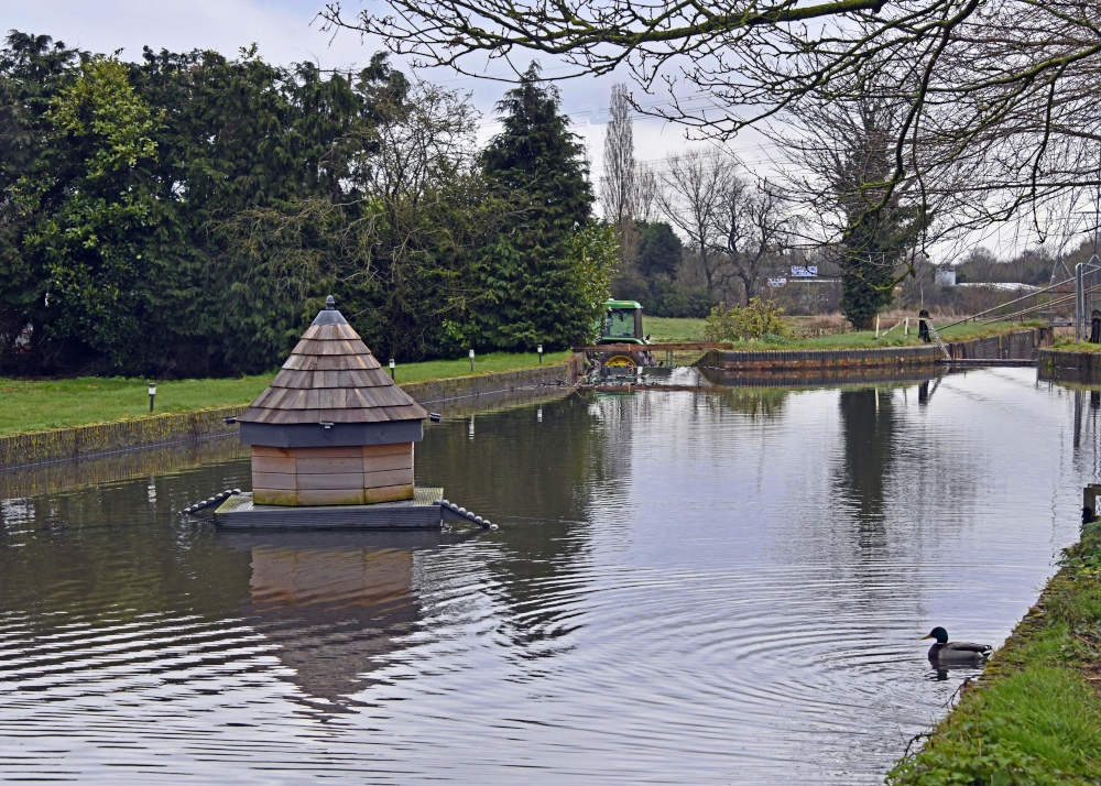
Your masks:
<path fill-rule="evenodd" d="M 571 394 L 426 428 L 475 536 L 181 517 L 240 451 L 8 499 L 0 779 L 880 783 L 969 676 L 919 637 L 1004 641 L 1097 426 L 1025 369 Z"/>

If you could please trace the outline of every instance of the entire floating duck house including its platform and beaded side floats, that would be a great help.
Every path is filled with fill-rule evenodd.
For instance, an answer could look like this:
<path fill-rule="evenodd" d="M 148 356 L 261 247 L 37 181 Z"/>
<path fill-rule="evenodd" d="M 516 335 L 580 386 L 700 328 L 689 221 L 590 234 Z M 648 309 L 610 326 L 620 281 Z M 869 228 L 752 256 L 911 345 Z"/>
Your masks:
<path fill-rule="evenodd" d="M 252 491 L 225 491 L 187 513 L 216 506 L 215 522 L 228 528 L 438 528 L 445 520 L 492 528 L 443 489 L 414 488 L 413 446 L 426 417 L 329 296 L 236 418 L 252 451 Z"/>

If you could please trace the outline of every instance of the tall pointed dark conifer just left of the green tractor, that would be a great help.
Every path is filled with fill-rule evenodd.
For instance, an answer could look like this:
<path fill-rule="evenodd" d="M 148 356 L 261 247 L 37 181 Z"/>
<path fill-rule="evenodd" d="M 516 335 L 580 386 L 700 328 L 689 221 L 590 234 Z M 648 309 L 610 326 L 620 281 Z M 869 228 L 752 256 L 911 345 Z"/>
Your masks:
<path fill-rule="evenodd" d="M 481 260 L 486 298 L 465 338 L 515 350 L 584 341 L 607 297 L 615 249 L 592 222 L 581 145 L 537 64 L 498 111 L 504 128 L 481 163 L 512 215 Z"/>

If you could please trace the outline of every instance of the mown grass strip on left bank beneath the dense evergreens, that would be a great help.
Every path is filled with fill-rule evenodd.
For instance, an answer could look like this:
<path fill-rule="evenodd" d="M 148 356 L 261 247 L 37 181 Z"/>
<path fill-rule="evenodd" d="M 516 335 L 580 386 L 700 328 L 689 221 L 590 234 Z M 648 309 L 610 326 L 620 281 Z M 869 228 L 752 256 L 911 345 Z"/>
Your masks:
<path fill-rule="evenodd" d="M 544 364 L 559 363 L 569 352 L 548 352 Z M 475 373 L 515 371 L 539 364 L 534 352 L 494 352 L 475 359 Z M 399 383 L 470 376 L 470 360 L 402 363 Z M 156 412 L 188 412 L 214 406 L 248 404 L 271 382 L 274 373 L 240 379 L 157 382 Z M 41 432 L 89 423 L 126 421 L 149 414 L 145 380 L 81 376 L 72 380 L 23 381 L 0 379 L 0 434 Z"/>

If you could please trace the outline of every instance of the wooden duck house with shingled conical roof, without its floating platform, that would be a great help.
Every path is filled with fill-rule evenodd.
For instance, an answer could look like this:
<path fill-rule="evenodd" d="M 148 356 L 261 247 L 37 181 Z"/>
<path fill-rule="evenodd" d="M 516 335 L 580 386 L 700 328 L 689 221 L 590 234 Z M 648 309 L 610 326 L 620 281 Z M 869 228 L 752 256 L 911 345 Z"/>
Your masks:
<path fill-rule="evenodd" d="M 413 445 L 428 413 L 394 384 L 333 297 L 271 385 L 237 421 L 258 505 L 413 499 Z"/>

